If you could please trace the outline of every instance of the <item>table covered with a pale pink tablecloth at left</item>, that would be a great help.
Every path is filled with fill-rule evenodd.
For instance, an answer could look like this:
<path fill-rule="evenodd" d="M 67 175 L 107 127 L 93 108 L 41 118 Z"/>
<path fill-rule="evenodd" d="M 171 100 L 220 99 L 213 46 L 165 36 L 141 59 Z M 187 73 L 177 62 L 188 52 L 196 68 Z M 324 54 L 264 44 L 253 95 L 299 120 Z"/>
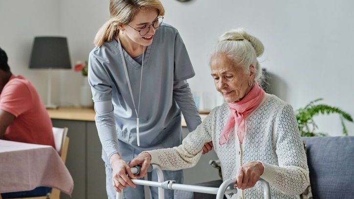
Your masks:
<path fill-rule="evenodd" d="M 57 151 L 47 145 L 0 140 L 0 193 L 40 186 L 71 195 L 73 180 Z"/>

